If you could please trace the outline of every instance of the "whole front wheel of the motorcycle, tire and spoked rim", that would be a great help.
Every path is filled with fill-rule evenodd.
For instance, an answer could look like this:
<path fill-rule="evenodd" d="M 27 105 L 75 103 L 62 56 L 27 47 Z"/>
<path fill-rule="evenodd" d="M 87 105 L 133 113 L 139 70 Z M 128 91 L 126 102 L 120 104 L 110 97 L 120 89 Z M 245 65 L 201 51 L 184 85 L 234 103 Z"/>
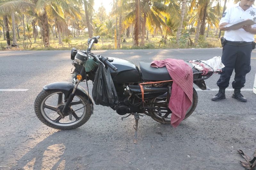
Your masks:
<path fill-rule="evenodd" d="M 68 113 L 62 117 L 57 111 L 62 111 L 66 103 L 65 99 L 67 96 L 61 91 L 43 90 L 35 100 L 36 116 L 41 122 L 54 129 L 69 130 L 82 126 L 92 115 L 92 107 L 87 102 L 88 99 L 75 95 L 68 107 Z"/>

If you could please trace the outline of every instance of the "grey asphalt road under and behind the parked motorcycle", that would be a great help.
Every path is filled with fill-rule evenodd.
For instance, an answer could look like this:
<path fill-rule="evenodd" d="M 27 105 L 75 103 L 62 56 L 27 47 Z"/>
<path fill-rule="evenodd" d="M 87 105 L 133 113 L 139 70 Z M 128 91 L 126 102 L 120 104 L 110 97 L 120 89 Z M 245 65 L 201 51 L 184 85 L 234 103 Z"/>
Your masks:
<path fill-rule="evenodd" d="M 207 60 L 221 56 L 222 49 L 93 52 L 138 65 L 165 58 Z M 34 101 L 42 87 L 71 80 L 70 51 L 0 51 L 0 89 L 28 89 L 0 91 L 0 169 L 244 169 L 236 151 L 252 156 L 256 149 L 256 94 L 248 90 L 255 78 L 256 50 L 251 66 L 242 92 L 247 103 L 231 98 L 232 87 L 227 99 L 218 102 L 211 101 L 216 91 L 198 91 L 196 110 L 178 128 L 142 117 L 138 144 L 133 144 L 134 118 L 121 121 L 108 107 L 94 105 L 89 121 L 68 131 L 47 127 L 36 117 Z M 207 86 L 218 88 L 218 78 L 207 79 Z"/>

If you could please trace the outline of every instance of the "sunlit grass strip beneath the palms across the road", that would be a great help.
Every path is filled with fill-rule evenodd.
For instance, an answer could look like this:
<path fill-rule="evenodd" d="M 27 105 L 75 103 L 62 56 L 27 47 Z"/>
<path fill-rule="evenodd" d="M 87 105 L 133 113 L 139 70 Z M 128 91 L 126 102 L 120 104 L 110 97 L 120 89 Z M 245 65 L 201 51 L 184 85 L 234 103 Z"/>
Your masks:
<path fill-rule="evenodd" d="M 188 35 L 190 36 L 191 40 L 194 41 L 195 35 Z M 175 48 L 215 48 L 215 47 L 221 47 L 220 40 L 215 35 L 210 35 L 209 37 L 200 37 L 198 44 L 191 45 L 188 43 L 188 36 L 184 34 L 184 37 L 181 37 L 180 45 L 178 46 L 176 44 L 175 37 L 168 37 L 166 43 L 162 42 L 162 36 L 155 36 L 154 38 L 152 35 L 148 36 L 148 40 L 145 38 L 145 46 L 144 47 L 137 47 L 133 46 L 133 40 L 130 36 L 122 37 L 122 43 L 121 43 L 121 49 L 175 49 Z M 36 42 L 34 43 L 34 38 L 31 38 L 32 45 L 31 48 L 30 42 L 28 39 L 25 41 L 23 40 L 23 37 L 17 40 L 19 48 L 12 48 L 10 50 L 69 50 L 72 47 L 75 47 L 77 49 L 87 49 L 87 40 L 88 35 L 80 35 L 80 36 L 70 36 L 68 40 L 70 40 L 70 46 L 68 43 L 63 42 L 62 45 L 59 45 L 59 39 L 56 37 L 50 37 L 50 47 L 45 48 L 42 39 L 37 38 Z M 67 37 L 62 37 L 63 39 L 67 39 Z M 126 42 L 123 42 L 125 39 Z M 24 46 L 23 46 L 24 41 Z M 6 50 L 6 40 L 4 40 L 3 35 L 0 36 L 0 49 Z M 28 47 L 28 48 L 26 48 Z M 106 36 L 102 36 L 97 44 L 94 45 L 93 49 L 115 49 L 115 41 L 114 38 L 109 38 Z"/>

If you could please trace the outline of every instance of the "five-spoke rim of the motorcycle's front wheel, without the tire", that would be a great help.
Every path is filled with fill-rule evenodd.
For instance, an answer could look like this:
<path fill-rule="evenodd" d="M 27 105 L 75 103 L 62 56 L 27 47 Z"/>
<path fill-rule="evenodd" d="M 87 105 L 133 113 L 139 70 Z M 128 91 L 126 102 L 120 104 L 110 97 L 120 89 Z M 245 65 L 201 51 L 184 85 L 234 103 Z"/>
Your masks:
<path fill-rule="evenodd" d="M 62 116 L 58 114 L 57 109 L 62 111 L 62 108 L 65 105 L 65 101 L 63 100 L 63 92 L 54 92 L 45 97 L 41 104 L 41 113 L 44 116 L 44 118 L 48 122 L 58 126 L 72 126 L 83 120 L 84 116 L 86 115 L 86 107 L 84 107 L 84 100 L 82 100 L 81 97 L 76 95 L 74 97 L 74 100 L 72 100 L 72 102 L 70 103 L 70 107 L 68 107 L 68 114 L 64 115 L 65 117 L 62 118 Z M 77 110 L 76 112 L 73 112 L 81 107 L 84 108 Z M 70 112 L 72 112 L 72 120 L 69 120 Z"/>

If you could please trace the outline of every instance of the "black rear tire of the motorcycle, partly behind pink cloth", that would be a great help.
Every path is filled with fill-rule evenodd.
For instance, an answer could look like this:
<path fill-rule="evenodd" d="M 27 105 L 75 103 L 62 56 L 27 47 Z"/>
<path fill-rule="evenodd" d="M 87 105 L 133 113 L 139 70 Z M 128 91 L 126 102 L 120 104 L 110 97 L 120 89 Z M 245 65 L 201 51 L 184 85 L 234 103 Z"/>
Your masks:
<path fill-rule="evenodd" d="M 152 100 L 152 102 L 154 102 L 155 99 Z M 194 110 L 196 109 L 196 105 L 197 105 L 197 102 L 198 102 L 198 96 L 197 96 L 197 92 L 196 90 L 193 88 L 193 100 L 192 100 L 192 105 L 191 107 L 189 108 L 189 110 L 187 111 L 187 114 L 185 116 L 184 119 L 187 119 L 188 116 L 190 116 Z M 150 105 L 150 107 L 154 107 L 154 105 Z M 169 117 L 167 118 L 164 118 L 163 116 L 159 116 L 158 113 L 156 112 L 153 112 L 153 110 L 149 110 L 148 113 L 150 115 L 152 115 L 152 119 L 154 119 L 156 122 L 160 122 L 160 123 L 163 123 L 163 124 L 171 124 L 171 114 L 169 115 Z M 164 119 L 163 119 L 164 118 Z"/>

